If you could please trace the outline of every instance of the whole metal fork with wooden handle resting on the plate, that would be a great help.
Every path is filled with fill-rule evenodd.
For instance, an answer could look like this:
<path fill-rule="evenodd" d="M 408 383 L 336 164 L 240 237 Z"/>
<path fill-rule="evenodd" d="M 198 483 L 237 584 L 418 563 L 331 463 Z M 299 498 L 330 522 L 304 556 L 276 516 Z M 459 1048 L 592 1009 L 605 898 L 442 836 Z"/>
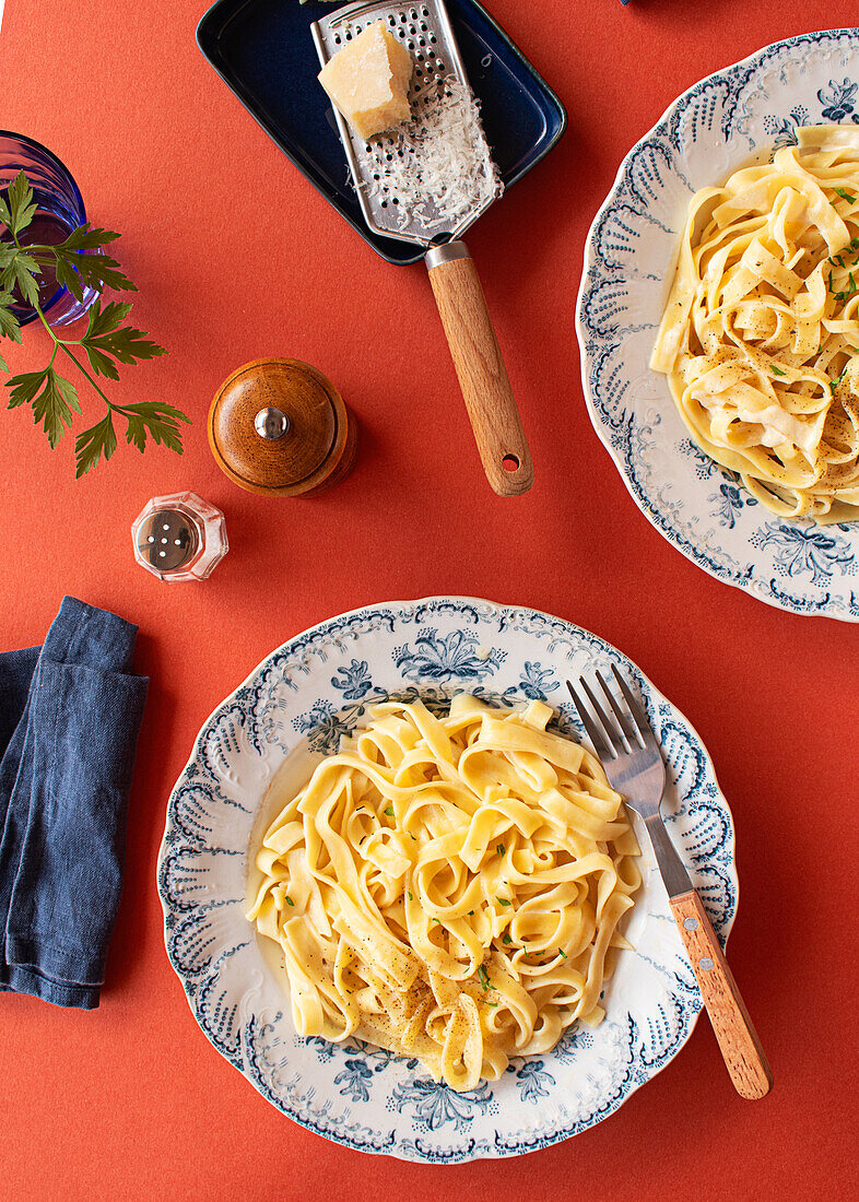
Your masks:
<path fill-rule="evenodd" d="M 614 665 L 612 672 L 626 708 L 599 672 L 596 673 L 596 678 L 606 695 L 609 713 L 597 701 L 584 677 L 579 677 L 581 692 L 577 692 L 569 680 L 567 688 L 612 787 L 622 793 L 626 804 L 638 814 L 646 827 L 656 863 L 668 891 L 668 904 L 692 964 L 730 1079 L 742 1097 L 764 1097 L 772 1088 L 772 1073 L 760 1047 L 760 1040 L 706 910 L 668 837 L 660 813 L 666 789 L 662 751 L 648 715 L 636 700 L 632 689 Z M 587 709 L 581 694 L 590 702 L 592 713 Z"/>

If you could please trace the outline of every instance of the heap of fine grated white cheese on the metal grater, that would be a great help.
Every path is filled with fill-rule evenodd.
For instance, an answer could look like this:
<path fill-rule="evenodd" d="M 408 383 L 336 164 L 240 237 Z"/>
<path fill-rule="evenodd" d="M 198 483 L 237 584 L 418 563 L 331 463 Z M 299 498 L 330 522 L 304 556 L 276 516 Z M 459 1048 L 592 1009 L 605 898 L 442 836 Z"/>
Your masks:
<path fill-rule="evenodd" d="M 466 84 L 436 79 L 411 99 L 411 121 L 384 143 L 371 144 L 368 195 L 392 202 L 386 207 L 392 228 L 417 224 L 426 232 L 449 232 L 501 196 L 501 175 L 479 102 Z"/>

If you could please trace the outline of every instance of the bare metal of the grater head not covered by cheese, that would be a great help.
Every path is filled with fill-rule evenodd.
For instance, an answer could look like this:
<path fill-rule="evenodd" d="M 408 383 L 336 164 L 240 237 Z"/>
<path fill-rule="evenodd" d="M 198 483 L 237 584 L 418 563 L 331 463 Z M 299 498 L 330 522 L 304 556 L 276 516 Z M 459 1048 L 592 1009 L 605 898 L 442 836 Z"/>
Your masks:
<path fill-rule="evenodd" d="M 384 20 L 390 32 L 399 37 L 412 54 L 414 72 L 408 89 L 408 101 L 416 117 L 419 117 L 422 107 L 426 107 L 431 99 L 434 83 L 443 87 L 446 79 L 455 78 L 470 88 L 443 0 L 419 0 L 406 5 L 358 0 L 357 4 L 346 5 L 328 17 L 314 22 L 310 28 L 322 66 L 345 42 L 377 20 Z M 416 214 L 410 214 L 407 207 L 400 203 L 400 198 L 381 183 L 386 157 L 389 161 L 394 154 L 404 156 L 398 138 L 380 135 L 365 142 L 353 132 L 336 107 L 332 107 L 358 202 L 364 220 L 374 233 L 420 246 L 431 246 L 448 238 L 453 240 L 461 238 L 496 198 L 491 196 L 476 206 L 452 227 L 449 219 L 440 215 L 428 197 L 420 206 L 424 212 L 424 219 L 420 220 Z M 374 188 L 376 183 L 377 188 Z"/>

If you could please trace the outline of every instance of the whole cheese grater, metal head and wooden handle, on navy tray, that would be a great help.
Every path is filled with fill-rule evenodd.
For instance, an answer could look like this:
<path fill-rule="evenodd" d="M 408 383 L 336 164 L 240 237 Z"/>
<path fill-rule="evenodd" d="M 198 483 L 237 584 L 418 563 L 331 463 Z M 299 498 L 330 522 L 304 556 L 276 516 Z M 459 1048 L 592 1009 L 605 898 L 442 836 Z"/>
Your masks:
<path fill-rule="evenodd" d="M 413 119 L 459 84 L 469 88 L 443 0 L 390 5 L 359 0 L 311 25 L 322 66 L 368 25 L 383 20 L 408 48 L 414 70 L 410 88 Z M 454 219 L 442 215 L 431 195 L 410 203 L 384 183 L 384 165 L 404 150 L 396 131 L 365 142 L 334 109 L 360 209 L 375 233 L 425 249 L 425 263 L 451 347 L 459 383 L 489 483 L 501 496 L 527 492 L 533 465 L 507 369 L 495 337 L 477 270 L 463 234 L 501 192 L 487 195 Z M 479 149 L 479 148 L 476 148 Z M 407 150 L 406 150 L 407 154 Z M 416 165 L 417 166 L 417 165 Z"/>

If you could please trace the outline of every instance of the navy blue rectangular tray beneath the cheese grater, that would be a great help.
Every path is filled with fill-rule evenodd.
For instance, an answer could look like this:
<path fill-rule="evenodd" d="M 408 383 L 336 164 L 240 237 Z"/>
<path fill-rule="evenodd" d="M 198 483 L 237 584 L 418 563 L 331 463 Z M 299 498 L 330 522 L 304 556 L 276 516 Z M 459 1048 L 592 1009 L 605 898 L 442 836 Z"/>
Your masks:
<path fill-rule="evenodd" d="M 423 252 L 371 233 L 362 216 L 320 71 L 310 24 L 342 7 L 298 0 L 217 0 L 197 26 L 197 44 L 249 113 L 346 220 L 390 263 Z M 551 150 L 567 113 L 477 0 L 447 0 L 469 82 L 505 186 Z"/>

